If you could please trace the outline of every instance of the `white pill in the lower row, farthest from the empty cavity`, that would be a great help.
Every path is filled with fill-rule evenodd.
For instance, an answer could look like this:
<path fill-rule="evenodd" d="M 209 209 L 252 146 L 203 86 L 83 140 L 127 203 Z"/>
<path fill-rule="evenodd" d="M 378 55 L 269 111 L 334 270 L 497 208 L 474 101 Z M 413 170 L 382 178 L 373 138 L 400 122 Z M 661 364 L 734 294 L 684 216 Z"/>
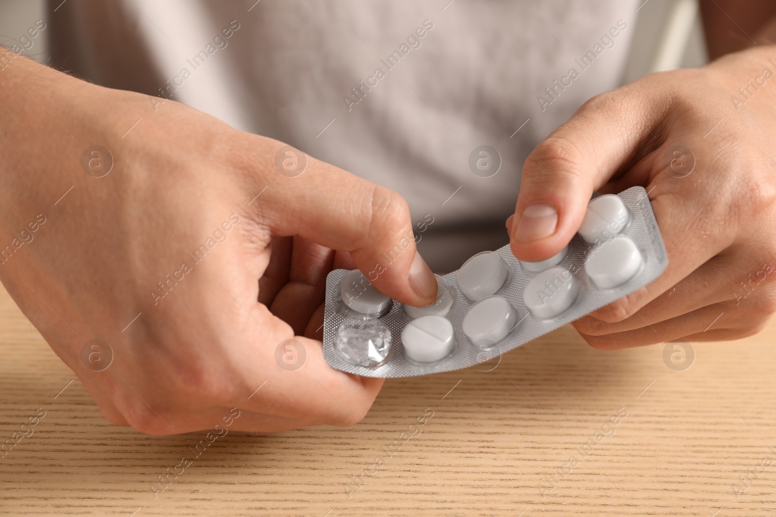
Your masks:
<path fill-rule="evenodd" d="M 594 250 L 587 262 L 584 271 L 599 289 L 613 289 L 625 284 L 639 272 L 644 258 L 628 237 L 616 236 L 613 240 L 604 243 Z"/>

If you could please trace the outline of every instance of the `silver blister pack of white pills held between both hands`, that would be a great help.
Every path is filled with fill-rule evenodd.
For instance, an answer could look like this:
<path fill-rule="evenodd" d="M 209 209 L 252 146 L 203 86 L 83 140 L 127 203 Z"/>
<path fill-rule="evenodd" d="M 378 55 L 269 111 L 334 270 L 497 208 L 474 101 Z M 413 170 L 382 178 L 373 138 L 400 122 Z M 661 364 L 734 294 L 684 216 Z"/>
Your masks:
<path fill-rule="evenodd" d="M 426 307 L 382 295 L 358 270 L 331 271 L 324 358 L 337 370 L 365 377 L 459 370 L 636 291 L 667 265 L 644 188 L 601 195 L 554 257 L 524 262 L 509 246 L 477 253 L 458 271 L 437 277 L 437 301 Z"/>

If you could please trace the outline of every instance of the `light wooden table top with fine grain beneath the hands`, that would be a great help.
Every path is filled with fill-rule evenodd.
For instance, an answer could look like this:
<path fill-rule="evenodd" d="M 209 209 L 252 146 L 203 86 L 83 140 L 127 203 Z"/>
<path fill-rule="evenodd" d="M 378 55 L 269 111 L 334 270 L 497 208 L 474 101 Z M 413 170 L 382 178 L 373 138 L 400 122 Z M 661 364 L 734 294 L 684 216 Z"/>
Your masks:
<path fill-rule="evenodd" d="M 154 498 L 205 433 L 113 426 L 5 291 L 0 322 L 0 441 L 45 411 L 0 457 L 0 515 L 776 512 L 776 325 L 695 343 L 684 371 L 662 345 L 602 352 L 567 326 L 501 364 L 388 381 L 350 429 L 230 433 Z"/>

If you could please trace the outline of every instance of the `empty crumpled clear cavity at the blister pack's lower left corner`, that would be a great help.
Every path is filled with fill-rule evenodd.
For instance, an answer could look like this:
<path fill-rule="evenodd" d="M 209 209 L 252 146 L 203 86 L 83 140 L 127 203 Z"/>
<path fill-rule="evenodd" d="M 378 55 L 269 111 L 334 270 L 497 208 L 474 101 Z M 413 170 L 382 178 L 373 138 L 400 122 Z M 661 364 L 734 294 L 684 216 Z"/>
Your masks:
<path fill-rule="evenodd" d="M 376 367 L 390 355 L 390 329 L 368 315 L 346 318 L 334 341 L 340 356 L 350 364 Z"/>

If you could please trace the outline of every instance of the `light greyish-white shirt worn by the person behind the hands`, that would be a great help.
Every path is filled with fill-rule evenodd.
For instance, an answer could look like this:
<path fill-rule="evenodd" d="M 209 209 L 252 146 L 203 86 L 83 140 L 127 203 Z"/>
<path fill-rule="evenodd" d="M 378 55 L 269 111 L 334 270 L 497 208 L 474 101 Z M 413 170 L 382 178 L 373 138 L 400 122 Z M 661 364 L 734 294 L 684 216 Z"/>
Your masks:
<path fill-rule="evenodd" d="M 427 236 L 503 228 L 532 148 L 622 81 L 636 0 L 448 2 L 70 0 L 53 61 L 392 188 Z"/>

